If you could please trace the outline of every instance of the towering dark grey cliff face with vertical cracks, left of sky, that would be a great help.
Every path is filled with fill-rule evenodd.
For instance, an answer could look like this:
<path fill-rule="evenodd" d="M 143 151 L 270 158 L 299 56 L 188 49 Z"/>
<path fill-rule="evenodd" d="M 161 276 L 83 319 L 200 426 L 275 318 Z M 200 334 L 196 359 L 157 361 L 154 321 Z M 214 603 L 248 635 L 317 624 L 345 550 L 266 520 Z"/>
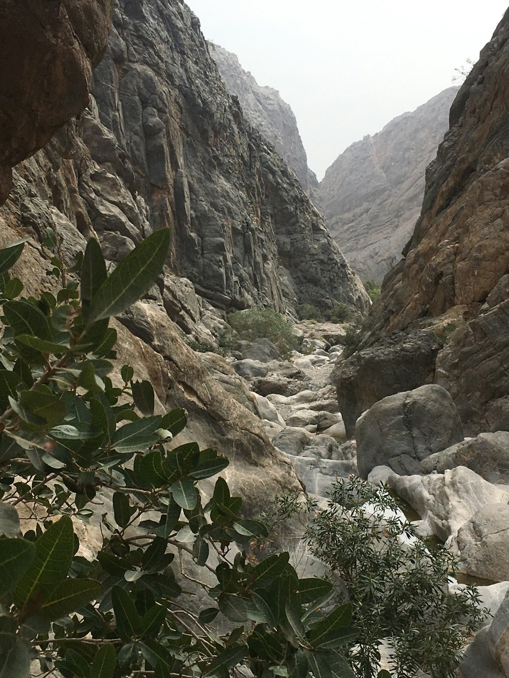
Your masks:
<path fill-rule="evenodd" d="M 181 0 L 117 1 L 92 93 L 81 139 L 95 165 L 80 173 L 79 194 L 100 240 L 130 247 L 170 228 L 170 266 L 220 308 L 366 306 L 297 178 L 227 93 Z"/>

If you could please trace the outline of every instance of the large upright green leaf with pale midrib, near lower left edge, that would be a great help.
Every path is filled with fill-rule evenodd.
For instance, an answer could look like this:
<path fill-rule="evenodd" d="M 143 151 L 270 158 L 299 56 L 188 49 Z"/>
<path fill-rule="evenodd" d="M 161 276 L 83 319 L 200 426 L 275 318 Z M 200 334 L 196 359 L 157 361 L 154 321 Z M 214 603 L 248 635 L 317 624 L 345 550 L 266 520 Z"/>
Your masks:
<path fill-rule="evenodd" d="M 67 576 L 73 553 L 73 522 L 64 515 L 35 542 L 35 557 L 14 589 L 16 604 L 21 607 L 41 592 L 48 600 Z"/>

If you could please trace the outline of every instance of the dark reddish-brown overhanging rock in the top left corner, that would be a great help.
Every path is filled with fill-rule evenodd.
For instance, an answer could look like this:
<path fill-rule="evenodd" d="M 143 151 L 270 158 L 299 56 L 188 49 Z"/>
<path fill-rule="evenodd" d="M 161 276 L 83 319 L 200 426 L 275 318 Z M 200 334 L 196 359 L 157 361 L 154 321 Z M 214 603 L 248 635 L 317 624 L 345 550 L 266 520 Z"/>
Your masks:
<path fill-rule="evenodd" d="M 0 204 L 11 187 L 10 168 L 87 106 L 112 7 L 113 0 L 2 3 Z"/>

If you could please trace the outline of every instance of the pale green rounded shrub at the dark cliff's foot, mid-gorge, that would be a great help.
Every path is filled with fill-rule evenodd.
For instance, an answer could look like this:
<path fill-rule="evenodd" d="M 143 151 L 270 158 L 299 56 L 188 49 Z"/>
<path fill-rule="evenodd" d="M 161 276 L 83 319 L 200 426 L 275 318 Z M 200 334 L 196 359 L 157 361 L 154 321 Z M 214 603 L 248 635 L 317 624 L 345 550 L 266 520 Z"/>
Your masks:
<path fill-rule="evenodd" d="M 240 340 L 269 339 L 286 359 L 291 356 L 292 351 L 299 348 L 292 325 L 272 308 L 265 308 L 263 311 L 257 308 L 235 311 L 228 315 L 227 321 Z"/>

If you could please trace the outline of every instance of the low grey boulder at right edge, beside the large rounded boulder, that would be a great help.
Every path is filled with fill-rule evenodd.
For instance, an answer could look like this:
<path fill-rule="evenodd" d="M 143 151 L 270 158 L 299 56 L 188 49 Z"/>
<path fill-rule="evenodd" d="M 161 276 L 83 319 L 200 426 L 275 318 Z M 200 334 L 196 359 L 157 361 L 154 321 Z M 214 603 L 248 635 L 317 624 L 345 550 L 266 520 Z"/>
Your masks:
<path fill-rule="evenodd" d="M 480 433 L 477 437 L 451 445 L 421 462 L 422 473 L 467 466 L 490 483 L 509 484 L 509 433 Z"/>

